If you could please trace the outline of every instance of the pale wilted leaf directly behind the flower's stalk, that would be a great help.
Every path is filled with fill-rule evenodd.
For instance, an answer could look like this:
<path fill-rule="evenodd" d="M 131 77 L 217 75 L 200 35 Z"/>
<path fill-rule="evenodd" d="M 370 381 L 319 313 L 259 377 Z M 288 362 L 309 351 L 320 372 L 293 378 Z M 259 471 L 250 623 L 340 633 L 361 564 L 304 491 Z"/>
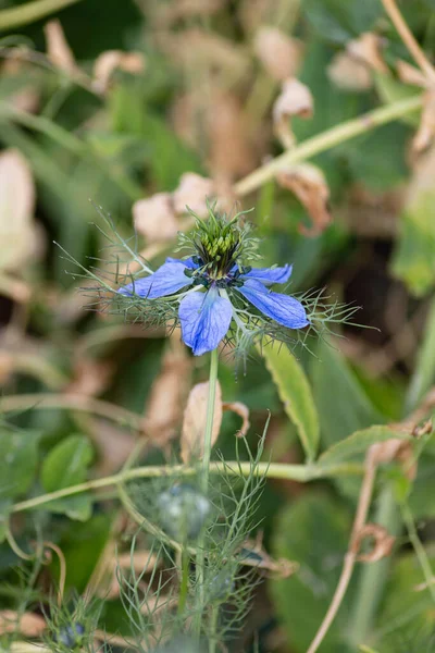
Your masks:
<path fill-rule="evenodd" d="M 184 411 L 183 431 L 182 431 L 182 460 L 189 463 L 192 457 L 202 458 L 204 446 L 204 433 L 207 422 L 207 409 L 209 404 L 209 382 L 195 385 L 187 399 L 187 406 Z M 212 446 L 217 440 L 222 423 L 222 390 L 221 384 L 216 383 L 216 394 L 214 399 Z"/>

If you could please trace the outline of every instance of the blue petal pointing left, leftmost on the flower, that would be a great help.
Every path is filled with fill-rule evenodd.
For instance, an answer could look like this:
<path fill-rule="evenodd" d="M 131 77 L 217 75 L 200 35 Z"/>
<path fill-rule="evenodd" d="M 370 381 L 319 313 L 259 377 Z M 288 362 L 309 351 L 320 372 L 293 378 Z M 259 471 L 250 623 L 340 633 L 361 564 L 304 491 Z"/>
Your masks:
<path fill-rule="evenodd" d="M 177 291 L 191 284 L 191 281 L 184 271 L 186 266 L 179 262 L 163 263 L 153 274 L 138 279 L 134 283 L 123 286 L 117 292 L 121 295 L 138 295 L 154 299 L 156 297 L 165 297 L 173 295 Z"/>

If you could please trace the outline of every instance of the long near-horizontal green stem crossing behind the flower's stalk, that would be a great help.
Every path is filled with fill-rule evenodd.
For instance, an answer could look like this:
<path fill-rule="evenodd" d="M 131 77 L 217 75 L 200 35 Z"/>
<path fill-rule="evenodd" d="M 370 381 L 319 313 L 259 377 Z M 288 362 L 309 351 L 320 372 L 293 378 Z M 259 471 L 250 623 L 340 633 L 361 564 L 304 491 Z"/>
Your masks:
<path fill-rule="evenodd" d="M 126 481 L 134 479 L 149 479 L 157 477 L 167 476 L 169 467 L 166 465 L 136 467 L 125 472 L 115 473 L 113 476 L 104 477 L 102 479 L 95 479 L 92 481 L 86 481 L 85 483 L 78 483 L 77 485 L 71 485 L 55 492 L 48 492 L 40 496 L 27 498 L 12 506 L 12 513 L 23 513 L 24 510 L 33 510 L 39 508 L 51 501 L 58 498 L 64 498 L 65 496 L 73 496 L 74 494 L 82 494 L 83 492 L 89 492 L 91 490 L 99 490 L 101 488 L 108 488 L 110 485 L 117 485 Z M 239 476 L 249 476 L 252 473 L 252 466 L 250 463 L 238 463 L 235 460 L 228 460 L 225 463 L 212 463 L 210 466 L 212 473 L 222 473 Z M 360 465 L 343 464 L 332 465 L 330 467 L 321 467 L 315 465 L 285 465 L 281 463 L 260 463 L 257 467 L 259 476 L 264 476 L 271 479 L 282 479 L 287 481 L 298 481 L 306 483 L 318 479 L 336 478 L 338 476 L 349 475 L 361 475 L 362 467 Z M 197 473 L 197 469 L 194 467 L 184 467 L 183 465 L 171 466 L 171 472 L 173 475 L 194 476 Z"/>

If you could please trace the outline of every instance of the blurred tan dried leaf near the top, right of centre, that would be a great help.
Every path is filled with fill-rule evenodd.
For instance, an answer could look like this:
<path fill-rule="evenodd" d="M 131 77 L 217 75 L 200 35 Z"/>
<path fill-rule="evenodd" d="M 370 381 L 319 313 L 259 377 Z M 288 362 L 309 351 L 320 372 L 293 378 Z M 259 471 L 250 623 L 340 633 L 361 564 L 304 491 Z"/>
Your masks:
<path fill-rule="evenodd" d="M 278 82 L 295 77 L 302 62 L 302 44 L 278 27 L 262 26 L 253 40 L 253 50 L 265 71 Z"/>

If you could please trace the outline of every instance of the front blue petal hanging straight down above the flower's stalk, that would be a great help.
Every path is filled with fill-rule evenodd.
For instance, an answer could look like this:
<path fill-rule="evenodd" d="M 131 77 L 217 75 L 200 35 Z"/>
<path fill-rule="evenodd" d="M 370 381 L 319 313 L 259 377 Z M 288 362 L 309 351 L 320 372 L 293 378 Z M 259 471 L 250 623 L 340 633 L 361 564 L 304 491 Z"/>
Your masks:
<path fill-rule="evenodd" d="M 195 356 L 215 349 L 229 329 L 233 307 L 216 288 L 190 293 L 179 304 L 183 341 Z"/>

